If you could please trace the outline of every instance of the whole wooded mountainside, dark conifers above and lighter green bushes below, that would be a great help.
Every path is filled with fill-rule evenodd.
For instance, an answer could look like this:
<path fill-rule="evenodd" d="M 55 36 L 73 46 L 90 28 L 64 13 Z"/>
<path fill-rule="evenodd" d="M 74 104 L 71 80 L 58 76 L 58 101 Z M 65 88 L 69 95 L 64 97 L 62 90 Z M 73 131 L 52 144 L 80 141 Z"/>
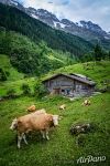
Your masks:
<path fill-rule="evenodd" d="M 0 3 L 0 53 L 9 55 L 19 72 L 41 75 L 73 64 L 91 50 L 92 44 L 84 39 Z"/>

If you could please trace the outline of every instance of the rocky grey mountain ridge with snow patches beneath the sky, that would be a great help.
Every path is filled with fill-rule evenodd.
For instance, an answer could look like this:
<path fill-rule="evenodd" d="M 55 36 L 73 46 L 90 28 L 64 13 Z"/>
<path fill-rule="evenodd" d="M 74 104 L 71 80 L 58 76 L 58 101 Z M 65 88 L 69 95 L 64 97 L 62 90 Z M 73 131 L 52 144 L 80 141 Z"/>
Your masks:
<path fill-rule="evenodd" d="M 51 25 L 52 28 L 72 33 L 79 38 L 82 38 L 87 41 L 90 41 L 92 44 L 100 43 L 103 49 L 110 49 L 110 33 L 102 30 L 98 24 L 92 23 L 91 21 L 79 21 L 73 22 L 68 19 L 57 19 L 55 14 L 48 12 L 44 9 L 34 9 L 34 8 L 24 8 L 22 4 L 15 0 L 0 0 L 4 4 L 15 7 L 30 17 L 41 20 L 44 23 Z"/>

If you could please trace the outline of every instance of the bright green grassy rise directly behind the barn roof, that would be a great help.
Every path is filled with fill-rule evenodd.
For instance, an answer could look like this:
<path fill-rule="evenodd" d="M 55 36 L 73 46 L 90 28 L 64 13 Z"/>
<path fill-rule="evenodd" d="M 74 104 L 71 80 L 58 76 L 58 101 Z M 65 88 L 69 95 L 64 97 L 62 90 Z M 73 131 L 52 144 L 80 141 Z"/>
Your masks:
<path fill-rule="evenodd" d="M 102 81 L 110 80 L 110 61 L 77 63 L 74 65 L 68 65 L 50 72 L 43 79 L 45 80 L 57 73 L 84 74 L 88 77 L 91 77 L 94 81 L 96 81 L 97 86 L 101 87 Z"/>

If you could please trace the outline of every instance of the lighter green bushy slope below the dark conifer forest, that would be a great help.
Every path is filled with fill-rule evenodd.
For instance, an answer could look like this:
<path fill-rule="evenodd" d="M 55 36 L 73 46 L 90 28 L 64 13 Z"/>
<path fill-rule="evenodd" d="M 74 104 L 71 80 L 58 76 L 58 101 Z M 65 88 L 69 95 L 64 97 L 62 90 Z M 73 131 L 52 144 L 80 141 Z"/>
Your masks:
<path fill-rule="evenodd" d="M 30 75 L 40 75 L 75 62 L 74 55 L 55 51 L 43 41 L 37 44 L 30 38 L 13 31 L 0 31 L 0 53 L 8 54 L 11 64 Z"/>

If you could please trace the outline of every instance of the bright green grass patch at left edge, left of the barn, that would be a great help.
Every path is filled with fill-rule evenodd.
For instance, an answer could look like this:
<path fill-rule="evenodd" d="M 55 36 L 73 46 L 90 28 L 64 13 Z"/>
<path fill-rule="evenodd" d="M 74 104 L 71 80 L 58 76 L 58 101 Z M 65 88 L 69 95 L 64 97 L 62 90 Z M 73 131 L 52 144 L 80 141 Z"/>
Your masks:
<path fill-rule="evenodd" d="M 19 73 L 10 63 L 10 59 L 8 55 L 0 54 L 0 68 L 3 69 L 4 72 L 9 72 L 8 81 L 0 82 L 0 96 L 7 94 L 10 89 L 14 89 L 16 94 L 21 94 L 21 85 L 26 83 L 30 85 L 31 90 L 33 91 L 32 86 L 36 82 L 35 77 L 25 77 L 23 73 Z"/>

